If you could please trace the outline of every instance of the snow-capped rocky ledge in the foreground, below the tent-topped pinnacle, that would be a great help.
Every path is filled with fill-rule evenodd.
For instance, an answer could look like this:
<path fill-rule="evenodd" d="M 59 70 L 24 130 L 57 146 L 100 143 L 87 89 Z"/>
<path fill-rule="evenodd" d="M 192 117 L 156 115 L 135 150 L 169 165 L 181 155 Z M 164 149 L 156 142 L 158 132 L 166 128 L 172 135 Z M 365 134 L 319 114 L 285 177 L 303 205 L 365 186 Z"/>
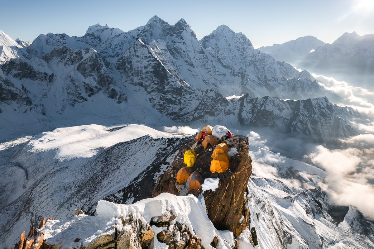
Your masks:
<path fill-rule="evenodd" d="M 66 223 L 47 221 L 39 230 L 45 234 L 43 245 L 85 249 L 141 249 L 150 245 L 151 248 L 169 245 L 199 249 L 201 246 L 211 248 L 210 243 L 218 237 L 203 206 L 193 196 L 164 193 L 132 205 L 99 201 L 96 212 L 96 216 L 75 215 Z M 153 222 L 167 212 L 176 215 L 162 224 Z M 222 239 L 218 241 L 224 245 Z"/>

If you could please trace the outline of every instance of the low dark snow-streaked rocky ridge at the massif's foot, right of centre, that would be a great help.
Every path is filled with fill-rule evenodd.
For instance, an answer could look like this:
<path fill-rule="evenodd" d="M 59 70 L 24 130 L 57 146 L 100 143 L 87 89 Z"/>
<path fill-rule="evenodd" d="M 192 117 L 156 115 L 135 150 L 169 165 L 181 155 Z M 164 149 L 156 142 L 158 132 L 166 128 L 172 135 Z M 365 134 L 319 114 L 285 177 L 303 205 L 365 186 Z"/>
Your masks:
<path fill-rule="evenodd" d="M 242 102 L 238 113 L 241 124 L 280 127 L 287 133 L 304 133 L 319 141 L 357 134 L 340 118 L 347 110 L 332 105 L 326 97 L 283 101 L 269 96 L 252 98 L 245 95 L 238 101 Z"/>

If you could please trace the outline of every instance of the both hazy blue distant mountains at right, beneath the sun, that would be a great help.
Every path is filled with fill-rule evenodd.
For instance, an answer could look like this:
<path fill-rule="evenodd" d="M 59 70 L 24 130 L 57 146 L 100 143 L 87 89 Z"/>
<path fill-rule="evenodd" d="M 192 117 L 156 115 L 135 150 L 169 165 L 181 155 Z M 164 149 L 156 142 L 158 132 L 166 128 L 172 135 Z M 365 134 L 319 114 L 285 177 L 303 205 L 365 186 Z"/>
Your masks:
<path fill-rule="evenodd" d="M 374 34 L 344 33 L 332 44 L 306 36 L 259 50 L 296 68 L 373 89 Z"/>

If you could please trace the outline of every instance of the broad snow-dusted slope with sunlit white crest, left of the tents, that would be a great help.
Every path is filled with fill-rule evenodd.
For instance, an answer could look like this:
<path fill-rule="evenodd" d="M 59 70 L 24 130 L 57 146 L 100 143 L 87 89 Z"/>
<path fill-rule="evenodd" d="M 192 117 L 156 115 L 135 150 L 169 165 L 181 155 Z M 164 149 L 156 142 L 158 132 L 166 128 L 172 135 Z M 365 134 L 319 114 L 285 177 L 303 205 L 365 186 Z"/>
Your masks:
<path fill-rule="evenodd" d="M 128 185 L 133 190 L 139 187 L 134 179 L 154 181 L 164 163 L 174 158 L 184 136 L 137 124 L 85 125 L 42 133 L 22 144 L 18 153 L 12 154 L 14 144 L 2 147 L 8 160 L 0 166 L 1 188 L 7 190 L 0 194 L 0 241 L 14 244 L 30 219 L 37 221 L 42 215 L 65 219 L 71 208 L 93 212 L 98 200 Z M 166 153 L 159 155 L 160 151 Z M 151 172 L 145 177 L 148 166 Z M 133 193 L 128 201 L 140 196 Z M 41 205 L 44 202 L 49 204 Z M 15 221 L 12 217 L 19 208 L 33 213 L 22 212 Z M 9 222 L 14 222 L 13 228 Z"/>

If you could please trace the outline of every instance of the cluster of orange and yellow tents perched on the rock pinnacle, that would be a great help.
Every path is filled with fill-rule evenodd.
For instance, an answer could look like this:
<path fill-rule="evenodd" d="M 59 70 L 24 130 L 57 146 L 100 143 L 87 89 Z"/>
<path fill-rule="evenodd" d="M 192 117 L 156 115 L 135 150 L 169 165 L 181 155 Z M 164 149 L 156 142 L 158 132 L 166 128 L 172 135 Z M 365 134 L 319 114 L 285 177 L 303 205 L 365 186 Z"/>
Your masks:
<path fill-rule="evenodd" d="M 196 144 L 203 147 L 203 151 L 214 148 L 211 158 L 210 172 L 224 173 L 230 166 L 231 157 L 227 154 L 229 146 L 223 141 L 231 138 L 230 130 L 224 126 L 206 125 L 196 135 Z M 219 141 L 222 141 L 221 143 Z M 230 140 L 229 140 L 230 141 Z M 193 171 L 197 156 L 194 149 L 187 150 L 183 156 L 183 162 L 187 165 L 182 167 L 177 173 L 177 183 L 186 184 L 188 191 L 201 190 L 204 178 L 198 171 Z"/>

